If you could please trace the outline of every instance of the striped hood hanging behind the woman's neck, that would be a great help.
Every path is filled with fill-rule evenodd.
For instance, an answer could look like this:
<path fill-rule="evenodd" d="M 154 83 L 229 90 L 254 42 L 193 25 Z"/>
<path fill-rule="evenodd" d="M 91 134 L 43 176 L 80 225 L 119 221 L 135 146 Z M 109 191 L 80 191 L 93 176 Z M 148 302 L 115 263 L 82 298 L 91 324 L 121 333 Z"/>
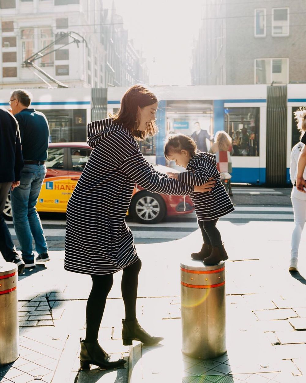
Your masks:
<path fill-rule="evenodd" d="M 113 123 L 111 118 L 93 121 L 87 125 L 87 144 L 94 148 L 101 140 L 118 130 L 125 130 L 131 134 L 122 124 Z"/>

